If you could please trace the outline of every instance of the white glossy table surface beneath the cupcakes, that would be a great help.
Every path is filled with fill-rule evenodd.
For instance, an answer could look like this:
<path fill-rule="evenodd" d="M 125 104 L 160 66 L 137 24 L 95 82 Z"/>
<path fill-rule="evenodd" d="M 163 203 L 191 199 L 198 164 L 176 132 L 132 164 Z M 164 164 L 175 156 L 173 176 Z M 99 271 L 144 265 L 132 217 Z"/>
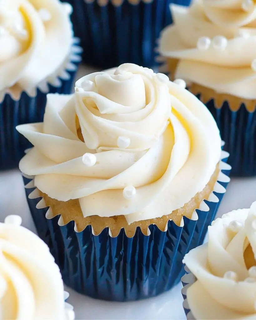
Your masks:
<path fill-rule="evenodd" d="M 90 71 L 93 69 L 90 69 Z M 80 69 L 82 76 L 89 68 Z M 256 178 L 233 178 L 217 214 L 248 208 L 256 200 Z M 23 180 L 18 169 L 0 172 L 0 222 L 9 214 L 22 217 L 22 225 L 35 232 L 26 202 Z M 136 302 L 109 302 L 82 296 L 71 289 L 68 302 L 74 306 L 76 319 L 186 319 L 182 308 L 181 284 L 156 298 Z"/>

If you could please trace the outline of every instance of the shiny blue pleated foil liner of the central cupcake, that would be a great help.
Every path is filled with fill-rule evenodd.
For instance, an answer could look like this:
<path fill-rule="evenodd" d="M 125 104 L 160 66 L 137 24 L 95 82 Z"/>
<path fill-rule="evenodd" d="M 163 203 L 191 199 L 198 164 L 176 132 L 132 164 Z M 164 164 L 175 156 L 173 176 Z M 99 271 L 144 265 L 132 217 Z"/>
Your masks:
<path fill-rule="evenodd" d="M 166 231 L 150 225 L 147 236 L 137 228 L 131 238 L 124 229 L 112 237 L 108 228 L 95 236 L 91 226 L 79 233 L 74 221 L 64 226 L 62 218 L 52 218 L 51 208 L 45 207 L 33 177 L 24 177 L 38 235 L 49 246 L 65 284 L 92 298 L 115 301 L 149 298 L 171 289 L 184 274 L 184 255 L 203 243 L 216 215 L 230 180 L 227 158 L 222 151 L 218 181 L 192 219 L 183 217 L 180 226 L 170 220 Z"/>

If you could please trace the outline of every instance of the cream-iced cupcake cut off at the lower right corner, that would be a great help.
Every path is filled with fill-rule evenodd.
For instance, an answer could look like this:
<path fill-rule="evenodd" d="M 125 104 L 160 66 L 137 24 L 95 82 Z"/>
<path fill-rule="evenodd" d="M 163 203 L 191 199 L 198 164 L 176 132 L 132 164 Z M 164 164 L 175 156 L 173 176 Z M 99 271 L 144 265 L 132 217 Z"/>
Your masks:
<path fill-rule="evenodd" d="M 212 222 L 209 242 L 186 254 L 188 319 L 255 319 L 256 202 Z"/>

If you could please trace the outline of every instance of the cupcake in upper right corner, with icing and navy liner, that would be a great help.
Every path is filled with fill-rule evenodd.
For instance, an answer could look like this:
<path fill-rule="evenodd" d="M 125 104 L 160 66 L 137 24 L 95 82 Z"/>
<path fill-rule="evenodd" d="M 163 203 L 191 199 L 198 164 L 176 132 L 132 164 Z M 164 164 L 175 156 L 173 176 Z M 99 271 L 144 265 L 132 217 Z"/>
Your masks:
<path fill-rule="evenodd" d="M 232 174 L 256 175 L 256 7 L 251 0 L 171 6 L 174 24 L 159 52 L 172 78 L 187 81 L 214 116 Z"/>

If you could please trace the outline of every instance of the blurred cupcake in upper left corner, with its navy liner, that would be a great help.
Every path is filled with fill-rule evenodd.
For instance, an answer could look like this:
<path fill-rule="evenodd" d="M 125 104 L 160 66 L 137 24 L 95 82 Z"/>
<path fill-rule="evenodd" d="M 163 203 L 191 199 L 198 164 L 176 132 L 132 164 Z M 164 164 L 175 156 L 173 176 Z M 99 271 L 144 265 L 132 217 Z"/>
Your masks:
<path fill-rule="evenodd" d="M 71 91 L 81 59 L 71 12 L 59 0 L 0 1 L 0 170 L 29 146 L 15 127 L 43 120 L 47 93 Z"/>

